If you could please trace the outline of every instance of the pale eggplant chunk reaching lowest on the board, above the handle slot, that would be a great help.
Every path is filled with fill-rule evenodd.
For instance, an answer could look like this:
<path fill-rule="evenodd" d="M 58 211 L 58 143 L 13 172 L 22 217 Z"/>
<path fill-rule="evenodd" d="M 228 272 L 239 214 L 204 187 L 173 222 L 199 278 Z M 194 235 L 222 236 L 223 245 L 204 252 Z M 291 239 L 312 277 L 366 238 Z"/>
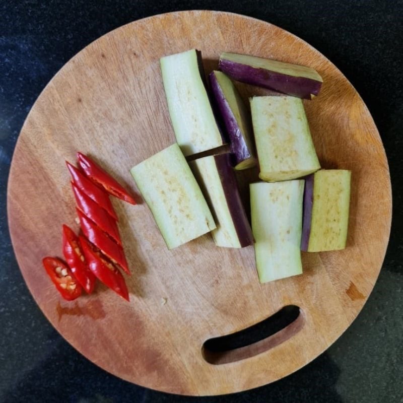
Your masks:
<path fill-rule="evenodd" d="M 250 184 L 250 211 L 260 283 L 302 273 L 304 180 Z"/>

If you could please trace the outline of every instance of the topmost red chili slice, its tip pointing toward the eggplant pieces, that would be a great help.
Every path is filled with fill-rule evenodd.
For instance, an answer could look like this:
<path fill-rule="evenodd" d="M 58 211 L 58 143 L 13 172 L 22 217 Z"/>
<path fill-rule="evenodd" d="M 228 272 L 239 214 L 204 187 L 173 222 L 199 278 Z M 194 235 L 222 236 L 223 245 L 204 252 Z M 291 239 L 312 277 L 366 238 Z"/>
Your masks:
<path fill-rule="evenodd" d="M 82 153 L 77 153 L 78 162 L 86 175 L 95 183 L 101 185 L 108 193 L 115 197 L 121 198 L 132 205 L 136 204 L 136 200 L 131 197 L 127 191 L 115 179 L 106 173 L 92 159 Z"/>

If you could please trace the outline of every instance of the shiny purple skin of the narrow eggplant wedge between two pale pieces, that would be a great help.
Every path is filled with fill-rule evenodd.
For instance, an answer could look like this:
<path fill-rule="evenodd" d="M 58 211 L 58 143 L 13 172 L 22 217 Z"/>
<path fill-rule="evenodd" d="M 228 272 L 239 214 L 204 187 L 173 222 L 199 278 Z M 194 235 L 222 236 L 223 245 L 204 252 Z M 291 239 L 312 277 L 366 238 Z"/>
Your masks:
<path fill-rule="evenodd" d="M 233 165 L 235 166 L 235 169 L 237 169 L 237 166 L 239 166 L 238 164 L 241 164 L 245 160 L 251 159 L 256 161 L 256 157 L 253 151 L 246 144 L 245 133 L 241 132 L 241 128 L 239 127 L 235 115 L 231 110 L 231 107 L 227 99 L 225 98 L 225 94 L 217 80 L 214 71 L 210 73 L 209 79 L 210 79 L 210 87 L 216 101 L 215 103 L 217 109 L 221 114 L 222 120 L 226 128 L 226 133 L 228 136 L 226 141 L 230 143 L 232 162 Z M 250 132 L 252 132 L 250 122 L 245 123 L 249 124 Z M 254 165 L 256 165 L 256 162 L 249 164 L 248 167 L 252 167 Z"/>

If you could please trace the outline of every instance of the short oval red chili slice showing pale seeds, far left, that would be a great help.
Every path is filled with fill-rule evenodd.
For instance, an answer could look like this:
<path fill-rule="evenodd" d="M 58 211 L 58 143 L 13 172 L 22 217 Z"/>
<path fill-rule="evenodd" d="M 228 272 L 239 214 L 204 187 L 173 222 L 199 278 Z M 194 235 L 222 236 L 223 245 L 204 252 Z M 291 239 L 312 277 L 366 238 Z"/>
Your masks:
<path fill-rule="evenodd" d="M 81 295 L 81 285 L 74 278 L 70 267 L 57 257 L 47 256 L 42 259 L 47 274 L 61 296 L 72 301 Z"/>

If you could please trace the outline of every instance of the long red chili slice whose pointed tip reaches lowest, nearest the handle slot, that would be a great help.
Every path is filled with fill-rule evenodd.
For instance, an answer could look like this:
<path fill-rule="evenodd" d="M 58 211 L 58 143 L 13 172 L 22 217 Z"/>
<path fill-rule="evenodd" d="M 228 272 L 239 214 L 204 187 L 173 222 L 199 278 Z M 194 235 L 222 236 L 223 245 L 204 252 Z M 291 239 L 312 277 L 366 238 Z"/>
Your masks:
<path fill-rule="evenodd" d="M 83 236 L 80 235 L 79 238 L 91 272 L 107 287 L 129 301 L 126 283 L 116 266 L 107 261 L 102 256 L 101 252 L 91 245 Z"/>

